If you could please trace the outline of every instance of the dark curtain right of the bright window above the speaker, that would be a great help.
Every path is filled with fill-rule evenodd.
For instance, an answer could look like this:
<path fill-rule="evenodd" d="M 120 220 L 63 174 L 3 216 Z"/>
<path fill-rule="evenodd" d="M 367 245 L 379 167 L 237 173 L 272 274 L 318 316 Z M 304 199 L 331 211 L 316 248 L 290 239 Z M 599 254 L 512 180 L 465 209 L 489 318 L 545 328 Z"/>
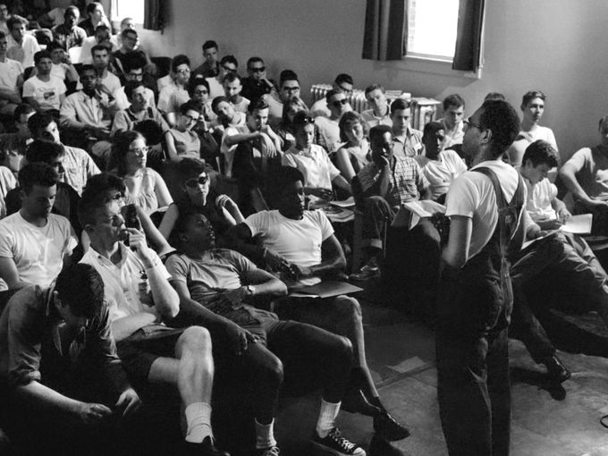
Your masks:
<path fill-rule="evenodd" d="M 458 35 L 452 70 L 476 72 L 481 59 L 485 0 L 460 0 Z"/>

